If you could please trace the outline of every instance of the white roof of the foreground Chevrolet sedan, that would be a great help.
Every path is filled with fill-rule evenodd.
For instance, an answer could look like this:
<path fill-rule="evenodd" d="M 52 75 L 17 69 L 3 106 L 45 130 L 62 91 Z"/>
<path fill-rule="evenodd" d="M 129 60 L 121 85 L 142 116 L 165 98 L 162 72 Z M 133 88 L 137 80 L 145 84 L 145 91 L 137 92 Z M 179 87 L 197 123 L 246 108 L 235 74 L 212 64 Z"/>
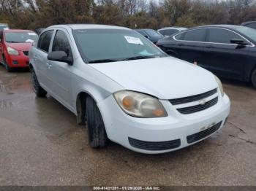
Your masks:
<path fill-rule="evenodd" d="M 95 25 L 95 24 L 67 24 L 67 25 L 55 25 L 49 26 L 48 28 L 71 28 L 72 30 L 77 29 L 126 29 L 131 30 L 122 26 L 107 26 L 107 25 Z"/>

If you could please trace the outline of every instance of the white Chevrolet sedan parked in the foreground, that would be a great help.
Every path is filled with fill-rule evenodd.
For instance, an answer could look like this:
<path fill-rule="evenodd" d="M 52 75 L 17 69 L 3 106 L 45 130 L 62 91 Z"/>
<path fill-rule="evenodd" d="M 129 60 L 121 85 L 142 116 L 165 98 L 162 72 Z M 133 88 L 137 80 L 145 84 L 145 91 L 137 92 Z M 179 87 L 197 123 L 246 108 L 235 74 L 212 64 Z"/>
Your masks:
<path fill-rule="evenodd" d="M 170 57 L 129 28 L 50 26 L 29 52 L 34 92 L 56 98 L 108 140 L 143 153 L 187 147 L 220 130 L 230 100 L 214 74 Z"/>

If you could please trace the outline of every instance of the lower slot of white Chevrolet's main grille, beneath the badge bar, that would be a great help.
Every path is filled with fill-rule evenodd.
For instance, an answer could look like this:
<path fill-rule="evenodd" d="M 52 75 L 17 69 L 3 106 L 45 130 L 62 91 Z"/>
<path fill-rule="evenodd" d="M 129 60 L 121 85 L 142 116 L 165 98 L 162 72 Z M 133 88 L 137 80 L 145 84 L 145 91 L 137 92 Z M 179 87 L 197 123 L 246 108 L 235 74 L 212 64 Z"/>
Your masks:
<path fill-rule="evenodd" d="M 181 114 L 192 114 L 195 112 L 200 112 L 203 111 L 205 109 L 208 109 L 211 106 L 214 106 L 215 104 L 217 104 L 218 102 L 218 97 L 213 98 L 210 101 L 207 101 L 206 104 L 203 105 L 196 105 L 196 106 L 188 106 L 188 107 L 184 107 L 184 108 L 178 108 L 178 112 L 180 112 Z"/>

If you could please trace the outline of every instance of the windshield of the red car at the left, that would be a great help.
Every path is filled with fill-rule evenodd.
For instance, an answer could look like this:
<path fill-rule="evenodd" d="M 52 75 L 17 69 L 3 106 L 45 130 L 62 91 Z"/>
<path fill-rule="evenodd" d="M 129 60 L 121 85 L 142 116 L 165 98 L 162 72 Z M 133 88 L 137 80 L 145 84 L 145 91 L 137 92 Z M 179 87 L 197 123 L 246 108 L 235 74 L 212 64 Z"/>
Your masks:
<path fill-rule="evenodd" d="M 7 32 L 5 34 L 6 42 L 23 43 L 34 42 L 37 39 L 37 34 L 34 32 Z"/>

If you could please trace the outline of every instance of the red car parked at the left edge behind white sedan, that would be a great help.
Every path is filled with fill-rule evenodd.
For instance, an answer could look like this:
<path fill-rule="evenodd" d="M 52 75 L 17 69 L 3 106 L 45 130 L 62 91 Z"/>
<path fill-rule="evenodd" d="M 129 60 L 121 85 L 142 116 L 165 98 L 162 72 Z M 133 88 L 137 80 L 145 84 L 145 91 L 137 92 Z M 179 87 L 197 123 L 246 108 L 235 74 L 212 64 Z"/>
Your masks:
<path fill-rule="evenodd" d="M 29 67 L 29 50 L 37 38 L 34 31 L 0 31 L 0 62 L 4 64 L 7 71 Z"/>

